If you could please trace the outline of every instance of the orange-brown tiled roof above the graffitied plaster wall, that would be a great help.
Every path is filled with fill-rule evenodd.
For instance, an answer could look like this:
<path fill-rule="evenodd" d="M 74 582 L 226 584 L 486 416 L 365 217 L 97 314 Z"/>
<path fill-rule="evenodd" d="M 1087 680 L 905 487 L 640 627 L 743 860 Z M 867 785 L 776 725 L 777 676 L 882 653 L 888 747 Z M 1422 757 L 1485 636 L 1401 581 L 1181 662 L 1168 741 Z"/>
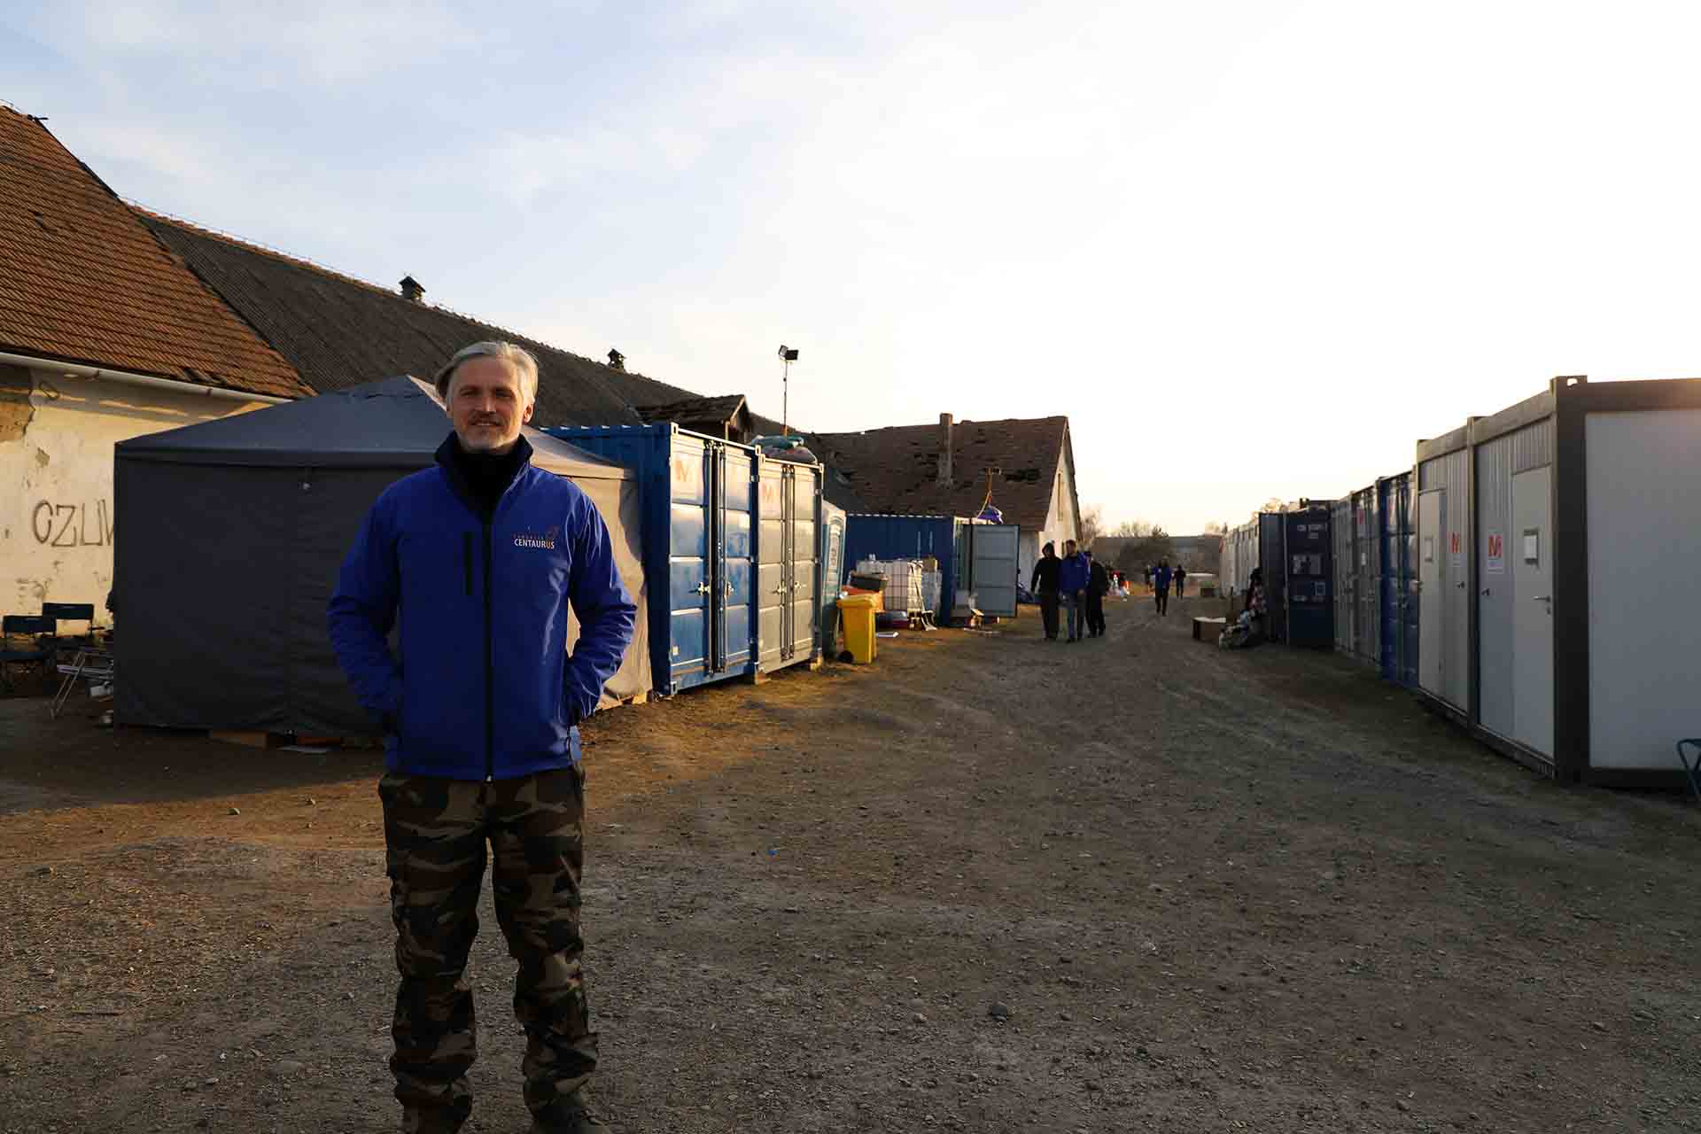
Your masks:
<path fill-rule="evenodd" d="M 0 350 L 279 398 L 311 393 L 46 126 L 3 105 Z"/>

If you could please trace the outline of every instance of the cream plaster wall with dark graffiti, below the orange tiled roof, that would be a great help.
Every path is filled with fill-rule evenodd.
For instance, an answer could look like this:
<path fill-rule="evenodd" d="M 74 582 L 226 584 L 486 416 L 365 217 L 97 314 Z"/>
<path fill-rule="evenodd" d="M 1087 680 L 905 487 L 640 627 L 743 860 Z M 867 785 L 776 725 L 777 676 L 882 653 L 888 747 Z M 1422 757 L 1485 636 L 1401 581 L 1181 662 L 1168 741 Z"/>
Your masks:
<path fill-rule="evenodd" d="M 10 369 L 15 383 L 20 369 Z M 27 408 L 0 403 L 0 612 L 92 602 L 112 588 L 112 447 L 264 403 L 29 371 Z M 15 386 L 9 393 L 20 393 Z M 22 422 L 22 435 L 17 425 Z M 75 629 L 75 627 L 70 627 Z"/>

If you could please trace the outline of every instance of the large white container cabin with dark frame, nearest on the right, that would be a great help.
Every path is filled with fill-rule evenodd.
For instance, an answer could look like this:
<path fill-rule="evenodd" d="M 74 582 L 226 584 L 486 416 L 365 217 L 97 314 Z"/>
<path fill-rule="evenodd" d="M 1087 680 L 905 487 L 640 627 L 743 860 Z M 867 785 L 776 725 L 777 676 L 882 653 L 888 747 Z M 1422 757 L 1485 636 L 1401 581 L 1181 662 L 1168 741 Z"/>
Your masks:
<path fill-rule="evenodd" d="M 1419 442 L 1420 690 L 1568 782 L 1681 784 L 1701 379 L 1553 379 Z"/>

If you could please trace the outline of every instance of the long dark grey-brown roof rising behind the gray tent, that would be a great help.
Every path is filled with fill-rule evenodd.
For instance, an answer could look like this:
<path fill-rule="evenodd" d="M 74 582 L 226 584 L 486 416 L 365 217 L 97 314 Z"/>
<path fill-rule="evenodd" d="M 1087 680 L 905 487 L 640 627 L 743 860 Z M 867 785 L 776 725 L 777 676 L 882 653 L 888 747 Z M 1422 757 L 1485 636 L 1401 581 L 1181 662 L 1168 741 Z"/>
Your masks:
<path fill-rule="evenodd" d="M 138 216 L 318 391 L 393 374 L 429 379 L 461 347 L 503 338 L 538 355 L 532 423 L 539 427 L 636 425 L 634 405 L 697 396 L 233 236 L 153 213 Z"/>

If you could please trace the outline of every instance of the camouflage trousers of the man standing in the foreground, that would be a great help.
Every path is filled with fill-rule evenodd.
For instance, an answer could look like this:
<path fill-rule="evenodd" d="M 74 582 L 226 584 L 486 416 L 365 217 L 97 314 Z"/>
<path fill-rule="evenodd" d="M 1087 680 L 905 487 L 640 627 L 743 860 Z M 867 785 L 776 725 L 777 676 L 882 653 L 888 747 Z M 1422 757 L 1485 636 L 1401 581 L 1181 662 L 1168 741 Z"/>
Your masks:
<path fill-rule="evenodd" d="M 478 935 L 486 842 L 497 921 L 519 961 L 514 1015 L 527 1035 L 526 1105 L 538 1129 L 561 1124 L 597 1066 L 580 971 L 580 772 L 493 782 L 390 774 L 378 794 L 401 972 L 390 1069 L 403 1129 L 452 1132 L 473 1110 L 466 1071 L 478 1039 L 466 954 Z"/>

